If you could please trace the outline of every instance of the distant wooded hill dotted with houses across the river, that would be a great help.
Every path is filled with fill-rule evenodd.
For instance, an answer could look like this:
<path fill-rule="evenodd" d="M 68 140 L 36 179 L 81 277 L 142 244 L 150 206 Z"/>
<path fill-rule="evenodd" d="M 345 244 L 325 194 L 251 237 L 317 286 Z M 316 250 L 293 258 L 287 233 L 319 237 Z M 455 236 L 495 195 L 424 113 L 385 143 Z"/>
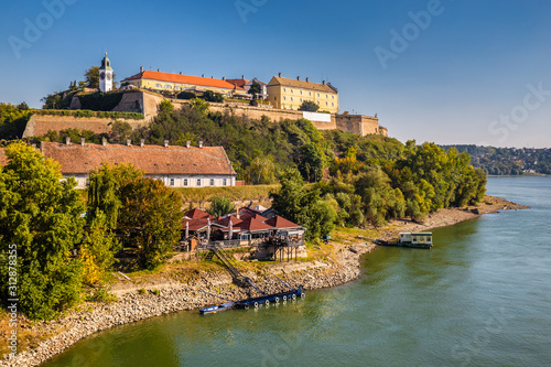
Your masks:
<path fill-rule="evenodd" d="M 551 174 L 549 148 L 440 147 L 445 150 L 455 147 L 460 152 L 471 154 L 472 164 L 491 175 Z"/>

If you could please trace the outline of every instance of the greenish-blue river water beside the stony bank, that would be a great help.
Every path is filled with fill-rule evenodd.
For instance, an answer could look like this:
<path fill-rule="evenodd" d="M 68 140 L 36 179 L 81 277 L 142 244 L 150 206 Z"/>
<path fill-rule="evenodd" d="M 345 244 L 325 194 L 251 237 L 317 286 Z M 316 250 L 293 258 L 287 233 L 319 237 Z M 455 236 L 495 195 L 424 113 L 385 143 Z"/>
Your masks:
<path fill-rule="evenodd" d="M 181 312 L 80 341 L 44 366 L 551 366 L 551 177 L 490 177 L 532 206 L 379 248 L 364 276 L 269 309 Z"/>

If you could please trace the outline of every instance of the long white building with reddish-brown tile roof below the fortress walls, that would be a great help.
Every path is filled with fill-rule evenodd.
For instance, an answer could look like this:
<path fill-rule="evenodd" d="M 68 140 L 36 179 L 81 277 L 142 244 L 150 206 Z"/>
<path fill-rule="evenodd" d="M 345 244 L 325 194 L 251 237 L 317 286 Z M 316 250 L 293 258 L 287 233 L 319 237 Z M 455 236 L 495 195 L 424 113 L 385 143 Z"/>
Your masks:
<path fill-rule="evenodd" d="M 132 145 L 41 142 L 41 152 L 61 163 L 64 177 L 75 177 L 86 187 L 90 171 L 102 164 L 132 164 L 145 176 L 162 180 L 170 187 L 235 186 L 236 172 L 223 147 Z"/>

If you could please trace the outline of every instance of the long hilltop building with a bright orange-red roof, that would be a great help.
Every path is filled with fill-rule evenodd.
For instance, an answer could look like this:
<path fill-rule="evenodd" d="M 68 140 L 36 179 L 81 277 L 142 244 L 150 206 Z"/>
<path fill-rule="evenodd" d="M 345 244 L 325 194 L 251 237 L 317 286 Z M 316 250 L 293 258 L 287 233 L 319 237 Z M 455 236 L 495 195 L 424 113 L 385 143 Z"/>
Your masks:
<path fill-rule="evenodd" d="M 245 94 L 245 89 L 228 83 L 225 79 L 206 78 L 204 76 L 190 76 L 182 74 L 161 73 L 140 69 L 139 74 L 122 80 L 128 85 L 142 89 L 169 90 L 169 91 L 205 91 L 213 90 L 225 97 Z"/>

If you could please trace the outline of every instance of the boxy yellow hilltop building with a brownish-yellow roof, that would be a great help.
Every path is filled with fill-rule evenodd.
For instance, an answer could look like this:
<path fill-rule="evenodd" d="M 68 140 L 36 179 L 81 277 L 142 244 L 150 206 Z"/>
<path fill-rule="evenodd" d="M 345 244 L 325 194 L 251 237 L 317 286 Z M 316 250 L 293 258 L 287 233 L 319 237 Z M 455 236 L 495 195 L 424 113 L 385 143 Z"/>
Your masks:
<path fill-rule="evenodd" d="M 338 112 L 338 90 L 329 84 L 274 76 L 268 84 L 268 100 L 274 108 L 298 110 L 305 100 L 320 106 L 320 111 Z"/>

